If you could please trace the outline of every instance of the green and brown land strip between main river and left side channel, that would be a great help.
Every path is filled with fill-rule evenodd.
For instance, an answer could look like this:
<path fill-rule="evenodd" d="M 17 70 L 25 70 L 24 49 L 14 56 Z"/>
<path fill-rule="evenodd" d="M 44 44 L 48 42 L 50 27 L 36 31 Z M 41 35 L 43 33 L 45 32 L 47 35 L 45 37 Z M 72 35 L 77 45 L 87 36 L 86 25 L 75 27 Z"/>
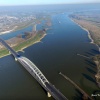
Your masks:
<path fill-rule="evenodd" d="M 47 19 L 47 18 L 46 18 Z M 15 51 L 23 51 L 23 49 L 40 42 L 40 40 L 46 35 L 46 30 L 51 26 L 50 19 L 46 21 L 45 27 L 41 30 L 36 30 L 36 24 L 31 32 L 24 32 L 16 37 L 5 40 Z M 0 43 L 0 57 L 9 55 L 9 51 Z"/>

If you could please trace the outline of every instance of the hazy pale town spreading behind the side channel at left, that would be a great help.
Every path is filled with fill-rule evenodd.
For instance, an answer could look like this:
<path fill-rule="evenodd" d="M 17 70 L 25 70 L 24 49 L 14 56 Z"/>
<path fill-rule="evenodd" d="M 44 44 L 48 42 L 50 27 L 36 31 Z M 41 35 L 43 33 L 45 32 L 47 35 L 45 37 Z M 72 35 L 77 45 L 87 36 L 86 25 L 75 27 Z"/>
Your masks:
<path fill-rule="evenodd" d="M 25 28 L 40 21 L 49 15 L 35 12 L 8 12 L 0 14 L 0 34 L 9 33 Z"/>

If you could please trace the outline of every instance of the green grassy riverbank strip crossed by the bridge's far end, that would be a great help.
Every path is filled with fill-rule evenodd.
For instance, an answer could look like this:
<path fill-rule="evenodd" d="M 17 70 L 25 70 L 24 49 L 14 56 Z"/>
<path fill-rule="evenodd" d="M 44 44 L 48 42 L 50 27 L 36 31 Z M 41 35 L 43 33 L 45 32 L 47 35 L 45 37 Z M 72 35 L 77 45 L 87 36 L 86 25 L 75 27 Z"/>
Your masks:
<path fill-rule="evenodd" d="M 46 32 L 45 31 L 38 31 L 35 36 L 21 42 L 21 43 L 18 43 L 16 46 L 13 46 L 12 48 L 18 52 L 18 51 L 22 51 L 33 45 L 33 44 L 36 44 L 38 42 L 41 42 L 41 40 L 46 36 Z M 3 48 L 0 50 L 0 58 L 4 57 L 4 56 L 7 56 L 7 55 L 10 55 L 9 51 L 6 49 L 6 48 Z"/>

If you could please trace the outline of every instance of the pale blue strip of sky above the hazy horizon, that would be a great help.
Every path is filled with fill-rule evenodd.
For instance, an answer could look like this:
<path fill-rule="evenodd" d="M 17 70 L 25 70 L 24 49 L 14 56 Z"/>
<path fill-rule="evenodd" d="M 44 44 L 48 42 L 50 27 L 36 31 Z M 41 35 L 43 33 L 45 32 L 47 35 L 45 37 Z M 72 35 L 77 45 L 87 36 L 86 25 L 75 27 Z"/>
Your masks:
<path fill-rule="evenodd" d="M 4 5 L 40 5 L 40 4 L 72 4 L 72 3 L 100 3 L 100 0 L 0 0 Z"/>

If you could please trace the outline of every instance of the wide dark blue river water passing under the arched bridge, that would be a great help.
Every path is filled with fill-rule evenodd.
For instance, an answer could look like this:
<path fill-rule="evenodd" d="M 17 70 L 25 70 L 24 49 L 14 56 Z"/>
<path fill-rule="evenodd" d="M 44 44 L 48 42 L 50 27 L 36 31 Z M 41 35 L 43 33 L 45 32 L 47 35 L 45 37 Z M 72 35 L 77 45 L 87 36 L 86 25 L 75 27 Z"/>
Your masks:
<path fill-rule="evenodd" d="M 30 30 L 30 27 L 26 29 Z M 5 34 L 1 37 L 7 39 L 10 36 Z M 41 41 L 26 48 L 25 53 L 19 53 L 34 62 L 69 100 L 81 100 L 81 94 L 59 72 L 71 78 L 89 95 L 98 92 L 95 64 L 91 59 L 77 55 L 91 57 L 98 53 L 97 46 L 90 43 L 85 30 L 71 21 L 67 14 L 56 14 L 52 16 L 51 29 Z M 9 55 L 0 58 L 0 100 L 53 98 L 48 98 L 38 82 Z"/>

